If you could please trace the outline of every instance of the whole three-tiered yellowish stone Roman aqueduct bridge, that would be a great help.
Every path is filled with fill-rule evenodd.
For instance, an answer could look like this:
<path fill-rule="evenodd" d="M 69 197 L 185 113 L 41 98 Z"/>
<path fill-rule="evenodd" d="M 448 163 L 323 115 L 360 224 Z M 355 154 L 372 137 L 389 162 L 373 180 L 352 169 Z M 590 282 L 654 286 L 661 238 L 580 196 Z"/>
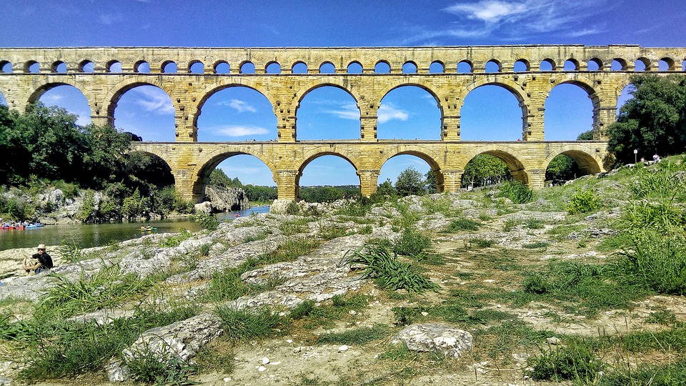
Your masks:
<path fill-rule="evenodd" d="M 440 191 L 458 189 L 465 165 L 477 154 L 499 157 L 515 179 L 540 188 L 547 164 L 558 154 L 572 157 L 586 173 L 604 171 L 605 131 L 615 122 L 617 98 L 636 74 L 636 64 L 656 74 L 684 73 L 685 60 L 686 48 L 640 46 L 0 48 L 0 94 L 11 109 L 24 111 L 49 89 L 68 84 L 88 100 L 93 123 L 114 124 L 114 109 L 126 91 L 158 86 L 172 99 L 176 142 L 139 142 L 133 149 L 164 159 L 179 192 L 193 199 L 204 195 L 214 167 L 237 154 L 251 154 L 272 170 L 281 199 L 295 199 L 304 167 L 329 154 L 352 164 L 365 195 L 377 189 L 384 162 L 399 154 L 424 159 Z M 294 72 L 303 66 L 308 70 Z M 387 71 L 377 71 L 379 66 Z M 457 71 L 465 66 L 469 71 Z M 545 101 L 558 84 L 587 92 L 593 141 L 544 140 Z M 522 141 L 460 141 L 464 98 L 484 85 L 503 87 L 517 98 Z M 204 103 L 232 86 L 249 87 L 269 100 L 277 118 L 276 141 L 197 142 Z M 359 139 L 297 139 L 299 104 L 322 86 L 343 89 L 357 102 Z M 400 86 L 418 86 L 434 97 L 441 114 L 440 140 L 377 139 L 379 105 Z"/>

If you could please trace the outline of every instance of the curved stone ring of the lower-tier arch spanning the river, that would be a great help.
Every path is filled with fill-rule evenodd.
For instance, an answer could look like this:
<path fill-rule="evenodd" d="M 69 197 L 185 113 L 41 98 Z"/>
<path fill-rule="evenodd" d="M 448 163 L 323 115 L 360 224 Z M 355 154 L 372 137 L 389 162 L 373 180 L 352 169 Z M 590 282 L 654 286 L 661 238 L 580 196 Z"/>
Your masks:
<path fill-rule="evenodd" d="M 200 146 L 199 149 L 202 149 L 202 146 Z M 207 182 L 209 182 L 209 174 L 212 173 L 212 170 L 214 170 L 217 165 L 221 164 L 226 159 L 242 154 L 253 156 L 262 161 L 272 172 L 272 179 L 278 181 L 277 168 L 274 167 L 274 164 L 272 164 L 269 158 L 264 157 L 264 154 L 261 152 L 255 152 L 254 149 L 241 145 L 229 147 L 229 149 L 224 147 L 203 154 L 202 158 L 198 160 L 197 167 L 192 169 L 191 175 L 193 180 L 191 183 L 193 187 L 193 197 L 204 197 L 205 187 L 207 187 Z"/>

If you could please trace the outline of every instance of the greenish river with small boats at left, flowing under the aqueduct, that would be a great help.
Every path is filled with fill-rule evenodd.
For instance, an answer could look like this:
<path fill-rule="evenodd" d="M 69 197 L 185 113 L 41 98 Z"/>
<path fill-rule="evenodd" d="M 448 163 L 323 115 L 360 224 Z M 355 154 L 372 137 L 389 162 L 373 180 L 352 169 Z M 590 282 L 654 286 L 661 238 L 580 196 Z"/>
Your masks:
<path fill-rule="evenodd" d="M 269 207 L 252 207 L 235 212 L 219 213 L 217 218 L 222 221 L 233 221 L 234 216 L 249 216 L 250 214 L 267 213 Z M 197 231 L 200 226 L 189 219 L 164 219 L 150 222 L 116 222 L 106 224 L 61 224 L 46 225 L 36 229 L 1 229 L 0 251 L 14 248 L 36 247 L 38 244 L 62 245 L 76 244 L 79 248 L 100 247 L 110 242 L 120 242 L 135 239 L 151 232 L 141 232 L 141 224 L 156 227 L 153 232 L 181 232 L 182 229 Z"/>

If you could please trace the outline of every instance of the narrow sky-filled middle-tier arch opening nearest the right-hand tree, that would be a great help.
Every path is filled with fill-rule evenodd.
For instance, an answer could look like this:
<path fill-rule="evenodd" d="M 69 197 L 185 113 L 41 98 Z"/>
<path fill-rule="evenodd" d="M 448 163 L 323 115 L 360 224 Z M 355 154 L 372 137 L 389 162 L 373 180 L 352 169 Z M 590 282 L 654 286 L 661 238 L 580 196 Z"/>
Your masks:
<path fill-rule="evenodd" d="M 576 141 L 593 129 L 593 103 L 578 84 L 558 84 L 545 99 L 545 139 Z"/>

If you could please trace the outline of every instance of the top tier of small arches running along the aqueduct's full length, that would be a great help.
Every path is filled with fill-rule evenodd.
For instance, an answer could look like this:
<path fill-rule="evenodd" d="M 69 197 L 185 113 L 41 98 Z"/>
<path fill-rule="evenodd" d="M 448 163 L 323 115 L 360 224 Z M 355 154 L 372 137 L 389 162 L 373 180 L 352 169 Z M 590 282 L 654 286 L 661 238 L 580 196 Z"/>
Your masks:
<path fill-rule="evenodd" d="M 379 63 L 387 64 L 391 74 L 400 74 L 410 64 L 417 74 L 429 74 L 434 64 L 444 73 L 454 74 L 458 64 L 469 65 L 470 72 L 482 73 L 487 64 L 497 65 L 497 72 L 515 71 L 515 63 L 524 71 L 540 71 L 539 64 L 550 64 L 550 71 L 610 71 L 617 61 L 621 71 L 634 71 L 641 62 L 645 71 L 658 71 L 658 63 L 666 64 L 665 71 L 683 71 L 686 61 L 684 48 L 645 48 L 627 46 L 530 45 L 530 46 L 446 46 L 446 47 L 283 47 L 283 48 L 206 48 L 206 47 L 74 47 L 74 48 L 0 48 L 0 71 L 11 65 L 13 72 L 29 73 L 37 64 L 41 73 L 108 73 L 113 64 L 121 65 L 121 72 L 136 73 L 141 65 L 151 73 L 163 73 L 175 64 L 176 73 L 192 73 L 200 64 L 206 74 L 216 74 L 222 64 L 229 74 L 242 74 L 244 64 L 253 64 L 255 74 L 267 73 L 278 64 L 283 74 L 294 73 L 304 64 L 308 69 L 330 66 L 337 74 L 347 73 L 351 64 L 358 64 L 362 74 L 374 73 Z M 197 67 L 196 67 L 197 68 Z M 119 70 L 118 70 L 119 71 Z"/>

